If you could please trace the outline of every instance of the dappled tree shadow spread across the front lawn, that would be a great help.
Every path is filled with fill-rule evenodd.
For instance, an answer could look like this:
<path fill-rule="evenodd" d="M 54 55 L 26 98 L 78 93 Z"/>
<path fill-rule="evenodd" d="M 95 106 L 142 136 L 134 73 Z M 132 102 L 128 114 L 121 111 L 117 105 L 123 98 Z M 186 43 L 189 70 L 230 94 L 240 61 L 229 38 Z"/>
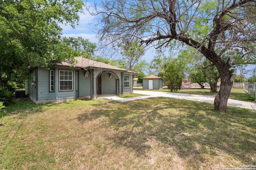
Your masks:
<path fill-rule="evenodd" d="M 109 102 L 96 107 L 78 120 L 107 117 L 108 126 L 114 129 L 108 140 L 138 155 L 146 156 L 151 148 L 147 142 L 154 137 L 198 165 L 208 161 L 205 154 L 210 158 L 218 156 L 218 151 L 244 164 L 255 164 L 251 156 L 256 154 L 256 114 L 250 110 L 229 107 L 228 113 L 220 113 L 212 104 L 172 98 Z"/>

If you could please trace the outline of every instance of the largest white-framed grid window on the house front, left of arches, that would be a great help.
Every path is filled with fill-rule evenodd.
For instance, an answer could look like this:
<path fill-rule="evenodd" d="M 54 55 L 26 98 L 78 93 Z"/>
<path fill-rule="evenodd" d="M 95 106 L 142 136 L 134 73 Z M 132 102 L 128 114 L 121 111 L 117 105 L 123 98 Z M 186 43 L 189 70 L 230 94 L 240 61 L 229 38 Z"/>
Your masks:
<path fill-rule="evenodd" d="M 73 90 L 73 71 L 60 70 L 60 91 Z"/>

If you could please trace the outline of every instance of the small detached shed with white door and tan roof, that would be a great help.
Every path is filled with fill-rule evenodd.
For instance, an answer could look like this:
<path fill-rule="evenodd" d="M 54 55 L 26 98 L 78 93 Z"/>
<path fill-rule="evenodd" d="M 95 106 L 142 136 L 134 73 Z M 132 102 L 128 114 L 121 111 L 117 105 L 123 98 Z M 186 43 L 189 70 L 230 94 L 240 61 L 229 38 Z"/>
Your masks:
<path fill-rule="evenodd" d="M 142 77 L 142 88 L 143 89 L 162 89 L 163 88 L 163 79 L 158 76 L 150 75 Z"/>

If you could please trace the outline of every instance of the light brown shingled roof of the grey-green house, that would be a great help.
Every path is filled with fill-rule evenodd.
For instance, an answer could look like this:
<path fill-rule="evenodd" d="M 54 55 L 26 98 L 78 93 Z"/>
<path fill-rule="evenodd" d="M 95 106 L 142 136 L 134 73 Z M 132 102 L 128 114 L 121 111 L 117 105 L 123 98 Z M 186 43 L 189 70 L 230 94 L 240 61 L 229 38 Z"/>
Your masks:
<path fill-rule="evenodd" d="M 90 59 L 86 59 L 84 57 L 74 57 L 74 59 L 77 61 L 76 64 L 70 64 L 68 61 L 64 61 L 60 64 L 57 65 L 61 65 L 61 66 L 75 66 L 75 67 L 79 67 L 79 68 L 84 68 L 85 70 L 88 68 L 103 68 L 105 70 L 120 70 L 120 71 L 124 71 L 124 72 L 131 72 L 129 70 L 123 69 L 123 68 L 118 68 L 116 66 L 112 66 L 106 63 L 102 63 L 99 61 L 93 61 Z"/>

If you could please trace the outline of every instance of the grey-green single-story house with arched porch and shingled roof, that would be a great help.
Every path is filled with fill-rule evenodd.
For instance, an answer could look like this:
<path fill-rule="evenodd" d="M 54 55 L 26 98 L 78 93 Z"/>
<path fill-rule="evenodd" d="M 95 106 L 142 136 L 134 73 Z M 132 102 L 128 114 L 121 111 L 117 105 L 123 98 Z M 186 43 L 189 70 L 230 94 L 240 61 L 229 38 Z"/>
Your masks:
<path fill-rule="evenodd" d="M 120 96 L 133 91 L 134 72 L 75 57 L 77 63 L 68 61 L 46 70 L 35 67 L 25 82 L 25 91 L 35 103 L 61 103 L 68 100 L 91 98 L 113 94 Z"/>

